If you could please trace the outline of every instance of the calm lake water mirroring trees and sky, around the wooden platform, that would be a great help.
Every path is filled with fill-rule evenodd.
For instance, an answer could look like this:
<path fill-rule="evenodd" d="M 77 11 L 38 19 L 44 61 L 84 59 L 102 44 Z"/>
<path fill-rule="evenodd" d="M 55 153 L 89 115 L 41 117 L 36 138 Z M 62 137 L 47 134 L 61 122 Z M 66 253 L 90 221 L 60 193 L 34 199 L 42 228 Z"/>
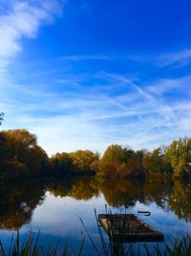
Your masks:
<path fill-rule="evenodd" d="M 97 214 L 150 211 L 139 216 L 164 234 L 165 241 L 191 235 L 191 184 L 152 178 L 146 182 L 81 177 L 74 179 L 31 178 L 0 186 L 0 239 L 8 249 L 11 235 L 19 229 L 21 239 L 40 230 L 40 244 L 67 244 L 76 253 L 85 236 L 84 254 L 96 255 L 82 226 L 100 246 Z M 107 240 L 107 235 L 104 233 Z M 150 243 L 149 246 L 153 246 Z"/>

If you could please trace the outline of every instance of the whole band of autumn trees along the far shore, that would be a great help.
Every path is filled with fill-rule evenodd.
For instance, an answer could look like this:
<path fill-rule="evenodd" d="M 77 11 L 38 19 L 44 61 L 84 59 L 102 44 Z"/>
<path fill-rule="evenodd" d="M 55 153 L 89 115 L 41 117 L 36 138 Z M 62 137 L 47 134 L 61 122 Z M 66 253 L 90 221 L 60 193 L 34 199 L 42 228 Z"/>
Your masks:
<path fill-rule="evenodd" d="M 0 114 L 0 123 L 3 114 Z M 180 138 L 154 151 L 111 145 L 101 156 L 79 150 L 49 157 L 26 129 L 0 131 L 0 178 L 21 175 L 99 175 L 144 178 L 148 175 L 191 177 L 191 138 Z"/>

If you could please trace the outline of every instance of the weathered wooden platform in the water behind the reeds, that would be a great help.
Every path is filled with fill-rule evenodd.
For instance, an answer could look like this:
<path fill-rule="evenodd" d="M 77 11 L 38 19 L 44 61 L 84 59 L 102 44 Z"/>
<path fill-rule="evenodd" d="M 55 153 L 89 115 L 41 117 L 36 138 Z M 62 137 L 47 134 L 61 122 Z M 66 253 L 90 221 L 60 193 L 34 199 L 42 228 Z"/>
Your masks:
<path fill-rule="evenodd" d="M 98 221 L 110 239 L 121 243 L 163 242 L 164 237 L 159 231 L 147 223 L 140 221 L 132 214 L 100 214 Z"/>

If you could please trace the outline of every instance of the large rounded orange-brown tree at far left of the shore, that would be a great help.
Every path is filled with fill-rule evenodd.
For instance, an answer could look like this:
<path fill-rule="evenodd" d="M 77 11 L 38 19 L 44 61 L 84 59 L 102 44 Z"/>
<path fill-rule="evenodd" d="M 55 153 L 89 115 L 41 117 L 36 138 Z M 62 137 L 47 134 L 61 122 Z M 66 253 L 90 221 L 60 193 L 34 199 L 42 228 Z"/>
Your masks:
<path fill-rule="evenodd" d="M 36 136 L 26 129 L 3 130 L 0 141 L 1 162 L 13 172 L 38 174 L 47 162 L 47 154 L 37 145 Z"/>

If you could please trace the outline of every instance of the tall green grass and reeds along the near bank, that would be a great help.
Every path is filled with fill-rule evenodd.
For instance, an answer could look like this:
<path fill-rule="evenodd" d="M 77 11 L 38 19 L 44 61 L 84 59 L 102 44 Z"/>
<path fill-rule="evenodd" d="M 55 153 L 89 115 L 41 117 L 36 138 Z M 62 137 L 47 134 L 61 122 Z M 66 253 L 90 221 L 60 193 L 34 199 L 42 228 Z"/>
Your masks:
<path fill-rule="evenodd" d="M 82 220 L 81 220 L 82 221 Z M 109 242 L 105 239 L 104 231 L 102 230 L 96 217 L 99 239 L 101 248 L 97 246 L 88 232 L 85 223 L 82 224 L 87 232 L 87 235 L 94 246 L 93 255 L 98 256 L 191 256 L 191 237 L 186 235 L 182 238 L 171 240 L 170 243 L 156 244 L 152 249 L 147 244 L 120 243 L 119 240 L 109 237 Z M 119 234 L 121 236 L 121 234 Z M 32 232 L 25 237 L 21 243 L 20 234 L 17 231 L 16 238 L 11 236 L 11 243 L 8 249 L 5 249 L 4 244 L 0 241 L 0 256 L 89 256 L 83 252 L 85 238 L 80 244 L 79 251 L 76 254 L 69 252 L 67 245 L 63 244 L 63 251 L 59 251 L 57 246 L 43 246 L 39 243 L 40 232 L 37 236 L 33 236 Z"/>

